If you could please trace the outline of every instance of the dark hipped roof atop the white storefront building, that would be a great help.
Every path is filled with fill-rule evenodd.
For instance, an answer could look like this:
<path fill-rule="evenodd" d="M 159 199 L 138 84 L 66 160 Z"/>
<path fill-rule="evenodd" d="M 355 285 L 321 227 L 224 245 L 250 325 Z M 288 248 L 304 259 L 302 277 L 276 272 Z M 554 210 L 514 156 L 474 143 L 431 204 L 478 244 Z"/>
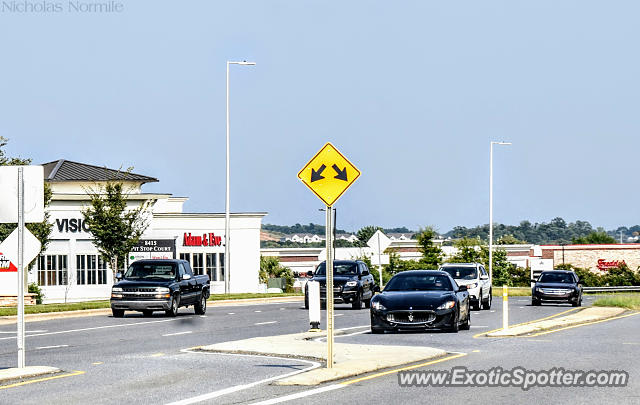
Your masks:
<path fill-rule="evenodd" d="M 141 174 L 113 170 L 106 167 L 88 165 L 60 159 L 45 163 L 44 178 L 46 181 L 113 181 L 127 180 L 144 183 L 155 183 L 158 179 Z"/>

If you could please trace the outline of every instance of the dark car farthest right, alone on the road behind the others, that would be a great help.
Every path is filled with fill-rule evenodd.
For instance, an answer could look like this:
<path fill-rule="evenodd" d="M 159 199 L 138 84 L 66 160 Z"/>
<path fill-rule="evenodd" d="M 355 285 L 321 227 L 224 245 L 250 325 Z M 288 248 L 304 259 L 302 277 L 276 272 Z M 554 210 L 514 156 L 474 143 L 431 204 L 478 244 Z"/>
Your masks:
<path fill-rule="evenodd" d="M 572 271 L 543 271 L 537 280 L 531 280 L 535 286 L 531 289 L 531 305 L 540 305 L 543 301 L 568 302 L 574 307 L 582 305 L 582 286 L 578 275 Z"/>

